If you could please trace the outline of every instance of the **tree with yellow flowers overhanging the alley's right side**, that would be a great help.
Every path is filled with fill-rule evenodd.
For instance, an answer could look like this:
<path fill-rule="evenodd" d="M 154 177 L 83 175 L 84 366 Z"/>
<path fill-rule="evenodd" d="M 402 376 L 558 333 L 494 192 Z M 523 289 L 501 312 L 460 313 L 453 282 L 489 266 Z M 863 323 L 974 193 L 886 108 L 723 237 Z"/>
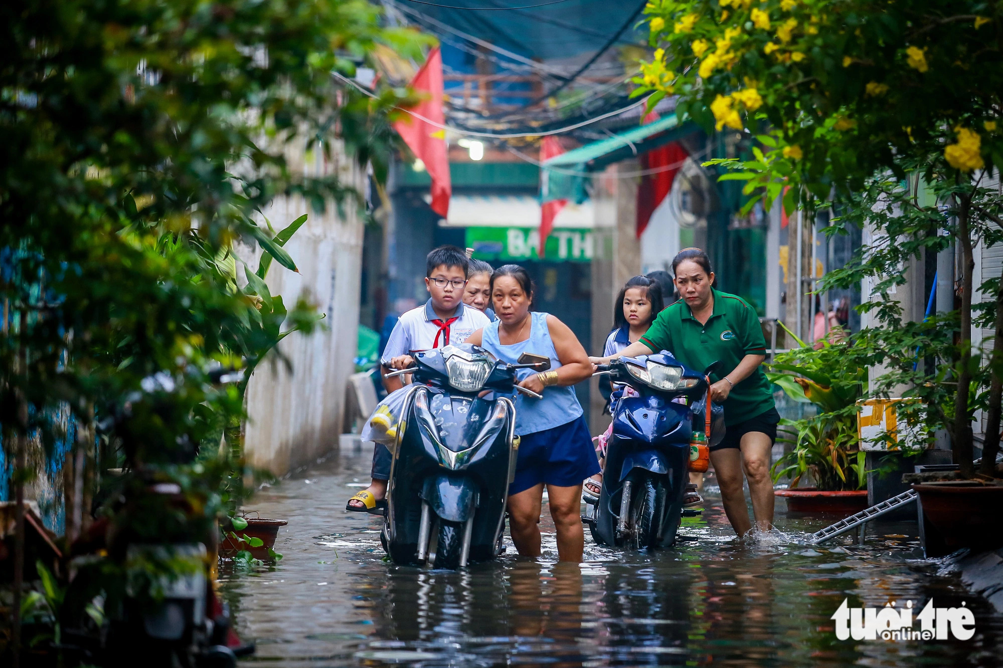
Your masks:
<path fill-rule="evenodd" d="M 639 76 L 636 94 L 653 93 L 651 104 L 677 95 L 677 114 L 708 131 L 747 130 L 746 143 L 758 134 L 756 159 L 718 161 L 736 170 L 723 179 L 746 182 L 749 207 L 787 189 L 788 209 L 827 208 L 876 179 L 898 184 L 908 170 L 940 185 L 943 201 L 923 212 L 927 223 L 910 233 L 916 243 L 900 250 L 937 251 L 949 242 L 946 230 L 961 252 L 951 379 L 959 389 L 948 412 L 956 460 L 971 474 L 972 248 L 993 243 L 1003 224 L 993 213 L 998 191 L 982 188 L 1003 166 L 1003 3 L 651 0 L 645 12 L 651 45 L 674 78 L 656 86 Z M 938 207 L 948 207 L 950 224 Z M 878 264 L 867 271 L 879 275 Z M 983 287 L 1000 290 L 998 282 Z M 1003 295 L 998 301 L 1003 319 Z M 992 367 L 998 422 L 1003 352 Z"/>

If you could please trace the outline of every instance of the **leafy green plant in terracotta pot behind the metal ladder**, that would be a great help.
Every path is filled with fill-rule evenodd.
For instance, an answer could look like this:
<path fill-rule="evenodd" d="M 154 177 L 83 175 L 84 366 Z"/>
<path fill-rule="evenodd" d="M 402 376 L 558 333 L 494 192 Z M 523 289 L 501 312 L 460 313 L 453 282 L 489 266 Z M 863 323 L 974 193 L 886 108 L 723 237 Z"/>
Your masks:
<path fill-rule="evenodd" d="M 778 354 L 766 376 L 794 401 L 814 404 L 818 413 L 780 420 L 787 435 L 777 440 L 793 447 L 771 472 L 774 482 L 787 477 L 790 484 L 774 493 L 786 499 L 790 512 L 853 515 L 868 506 L 865 453 L 857 430 L 857 400 L 867 381 L 861 350 L 842 336 L 813 348 L 786 331 L 800 347 Z M 814 485 L 798 487 L 805 476 Z"/>

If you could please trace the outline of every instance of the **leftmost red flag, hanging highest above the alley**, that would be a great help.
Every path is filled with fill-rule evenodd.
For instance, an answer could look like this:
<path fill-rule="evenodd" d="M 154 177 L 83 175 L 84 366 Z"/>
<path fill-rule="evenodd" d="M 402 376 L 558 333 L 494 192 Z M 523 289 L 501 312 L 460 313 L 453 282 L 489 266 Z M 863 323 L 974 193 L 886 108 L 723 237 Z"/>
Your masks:
<path fill-rule="evenodd" d="M 442 129 L 445 125 L 442 113 L 442 54 L 437 46 L 428 52 L 425 64 L 411 79 L 411 88 L 421 95 L 422 100 L 393 127 L 414 156 L 424 162 L 428 176 L 432 178 L 432 211 L 445 218 L 449 213 L 452 184 L 449 181 L 445 130 Z"/>

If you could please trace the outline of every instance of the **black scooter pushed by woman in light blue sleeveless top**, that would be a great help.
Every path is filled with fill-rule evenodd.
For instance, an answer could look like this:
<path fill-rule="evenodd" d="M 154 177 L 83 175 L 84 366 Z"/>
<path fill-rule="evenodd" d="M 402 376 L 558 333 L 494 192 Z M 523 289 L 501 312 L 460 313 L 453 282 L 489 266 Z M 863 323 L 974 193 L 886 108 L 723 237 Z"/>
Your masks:
<path fill-rule="evenodd" d="M 546 371 L 547 357 L 498 361 L 469 344 L 413 353 L 387 486 L 381 540 L 395 564 L 455 569 L 500 554 L 516 471 L 516 370 Z"/>

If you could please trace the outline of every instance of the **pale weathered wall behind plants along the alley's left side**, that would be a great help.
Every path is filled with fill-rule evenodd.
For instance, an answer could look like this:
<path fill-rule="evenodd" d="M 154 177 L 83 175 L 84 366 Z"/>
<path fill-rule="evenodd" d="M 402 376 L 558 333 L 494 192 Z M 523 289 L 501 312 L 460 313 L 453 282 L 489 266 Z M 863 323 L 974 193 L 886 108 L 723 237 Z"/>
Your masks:
<path fill-rule="evenodd" d="M 365 183 L 364 172 L 340 151 L 335 151 L 333 159 L 319 153 L 291 154 L 287 159 L 305 174 L 336 173 L 342 184 L 359 192 Z M 340 212 L 334 203 L 316 212 L 299 197 L 278 198 L 264 213 L 276 230 L 309 214 L 306 225 L 285 247 L 300 273 L 273 262 L 267 282 L 288 308 L 303 295 L 325 315 L 321 331 L 310 336 L 292 334 L 279 344 L 291 369 L 270 355 L 248 386 L 248 461 L 282 475 L 314 461 L 338 443 L 345 386 L 354 370 L 364 222 L 354 202 L 344 203 Z M 255 258 L 248 263 L 257 268 L 261 251 L 253 253 Z"/>

